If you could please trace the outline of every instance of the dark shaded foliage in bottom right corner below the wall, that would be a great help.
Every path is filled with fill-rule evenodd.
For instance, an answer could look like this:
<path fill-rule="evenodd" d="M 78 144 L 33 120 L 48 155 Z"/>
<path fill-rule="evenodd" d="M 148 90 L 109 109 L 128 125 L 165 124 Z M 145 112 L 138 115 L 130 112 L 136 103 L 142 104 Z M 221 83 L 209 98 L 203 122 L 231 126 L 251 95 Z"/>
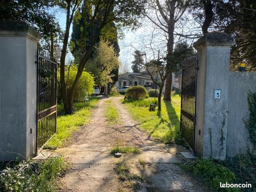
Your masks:
<path fill-rule="evenodd" d="M 251 183 L 253 189 L 248 189 L 248 191 L 256 190 L 256 155 L 250 152 L 245 155 L 238 154 L 219 163 L 236 174 L 236 183 Z"/>

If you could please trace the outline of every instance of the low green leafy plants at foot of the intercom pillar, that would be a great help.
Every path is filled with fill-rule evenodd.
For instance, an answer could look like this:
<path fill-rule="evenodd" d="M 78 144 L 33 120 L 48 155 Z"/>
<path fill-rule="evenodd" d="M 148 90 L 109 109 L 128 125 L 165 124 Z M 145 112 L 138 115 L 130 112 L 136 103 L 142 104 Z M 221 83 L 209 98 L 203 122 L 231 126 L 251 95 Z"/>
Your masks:
<path fill-rule="evenodd" d="M 231 170 L 209 159 L 196 160 L 194 164 L 184 166 L 213 187 L 213 191 L 229 191 L 228 188 L 220 188 L 220 182 L 234 183 L 236 181 L 236 175 Z"/>

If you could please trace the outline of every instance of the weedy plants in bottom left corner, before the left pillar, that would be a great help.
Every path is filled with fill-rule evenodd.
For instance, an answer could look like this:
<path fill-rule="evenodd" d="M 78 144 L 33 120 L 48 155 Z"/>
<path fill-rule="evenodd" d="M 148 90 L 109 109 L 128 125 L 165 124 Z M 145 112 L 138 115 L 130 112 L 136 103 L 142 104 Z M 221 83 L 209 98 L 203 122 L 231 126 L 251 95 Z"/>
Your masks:
<path fill-rule="evenodd" d="M 57 191 L 56 178 L 67 169 L 61 156 L 43 163 L 23 161 L 0 173 L 0 191 Z"/>

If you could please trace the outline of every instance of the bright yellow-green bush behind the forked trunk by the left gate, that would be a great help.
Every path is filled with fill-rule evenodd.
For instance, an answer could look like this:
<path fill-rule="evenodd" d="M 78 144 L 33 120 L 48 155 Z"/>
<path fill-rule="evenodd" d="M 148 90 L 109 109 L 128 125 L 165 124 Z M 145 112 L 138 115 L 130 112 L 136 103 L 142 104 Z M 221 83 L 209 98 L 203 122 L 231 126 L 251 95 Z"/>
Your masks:
<path fill-rule="evenodd" d="M 75 81 L 76 74 L 77 74 L 77 66 L 67 66 L 66 70 L 69 72 L 65 73 L 65 82 L 67 84 L 67 90 L 71 89 L 73 82 Z M 60 80 L 60 76 L 58 74 L 58 80 Z M 79 83 L 75 89 L 75 102 L 82 102 L 86 100 L 86 97 L 93 93 L 93 86 L 94 86 L 94 78 L 88 72 L 82 72 L 82 75 L 79 79 Z"/>

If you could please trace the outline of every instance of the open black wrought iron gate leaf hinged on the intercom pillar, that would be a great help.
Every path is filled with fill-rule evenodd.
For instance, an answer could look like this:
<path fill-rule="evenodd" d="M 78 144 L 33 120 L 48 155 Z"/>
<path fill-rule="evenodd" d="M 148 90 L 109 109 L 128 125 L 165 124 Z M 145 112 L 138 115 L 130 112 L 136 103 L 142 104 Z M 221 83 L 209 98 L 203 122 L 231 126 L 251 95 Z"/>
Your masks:
<path fill-rule="evenodd" d="M 195 147 L 197 56 L 188 57 L 184 64 L 181 83 L 180 130 L 189 149 L 193 152 Z"/>

